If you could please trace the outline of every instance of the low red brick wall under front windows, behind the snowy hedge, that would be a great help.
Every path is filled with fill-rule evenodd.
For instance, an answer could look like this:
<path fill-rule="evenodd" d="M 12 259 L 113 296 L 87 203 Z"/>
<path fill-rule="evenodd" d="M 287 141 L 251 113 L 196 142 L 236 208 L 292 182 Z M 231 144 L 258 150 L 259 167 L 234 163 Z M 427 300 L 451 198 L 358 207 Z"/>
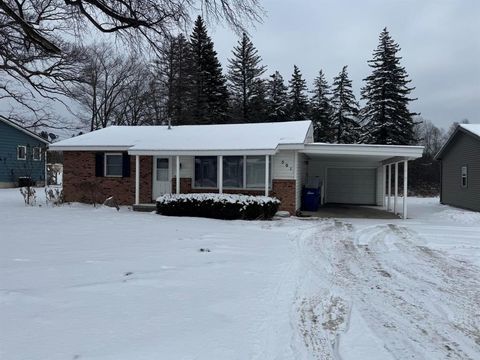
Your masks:
<path fill-rule="evenodd" d="M 294 215 L 296 212 L 295 206 L 295 180 L 272 180 L 272 190 L 270 196 L 278 198 L 282 203 L 280 210 L 288 211 Z M 176 192 L 176 179 L 172 179 L 172 192 Z M 244 194 L 244 195 L 264 195 L 264 190 L 248 190 L 248 189 L 223 189 L 225 194 Z M 218 193 L 218 189 L 193 189 L 192 179 L 180 178 L 180 193 Z"/>

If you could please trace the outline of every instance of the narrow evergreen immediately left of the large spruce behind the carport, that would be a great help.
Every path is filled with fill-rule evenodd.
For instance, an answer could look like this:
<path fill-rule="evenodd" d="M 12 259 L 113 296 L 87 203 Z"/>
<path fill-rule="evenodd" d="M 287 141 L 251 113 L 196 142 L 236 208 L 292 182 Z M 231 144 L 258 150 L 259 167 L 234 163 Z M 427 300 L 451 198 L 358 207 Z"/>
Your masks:
<path fill-rule="evenodd" d="M 348 78 L 347 66 L 333 79 L 331 104 L 332 122 L 337 143 L 352 144 L 358 141 L 360 125 L 357 121 L 359 105 Z"/>

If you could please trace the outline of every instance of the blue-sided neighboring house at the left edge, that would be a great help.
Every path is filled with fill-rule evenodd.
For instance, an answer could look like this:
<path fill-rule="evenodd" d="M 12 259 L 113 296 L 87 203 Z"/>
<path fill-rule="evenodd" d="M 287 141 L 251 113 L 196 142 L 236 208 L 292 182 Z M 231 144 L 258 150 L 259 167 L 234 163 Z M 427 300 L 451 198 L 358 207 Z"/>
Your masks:
<path fill-rule="evenodd" d="M 24 127 L 0 117 L 0 188 L 18 186 L 23 179 L 31 179 L 37 185 L 45 183 L 48 143 Z"/>

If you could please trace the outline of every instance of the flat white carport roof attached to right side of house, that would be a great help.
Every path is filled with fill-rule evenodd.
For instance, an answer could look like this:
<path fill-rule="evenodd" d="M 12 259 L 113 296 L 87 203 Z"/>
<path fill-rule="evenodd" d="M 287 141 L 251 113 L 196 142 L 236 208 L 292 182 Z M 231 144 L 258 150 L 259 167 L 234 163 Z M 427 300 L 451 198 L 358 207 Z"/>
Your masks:
<path fill-rule="evenodd" d="M 300 152 L 317 156 L 365 158 L 389 163 L 419 158 L 422 156 L 423 146 L 307 143 Z"/>

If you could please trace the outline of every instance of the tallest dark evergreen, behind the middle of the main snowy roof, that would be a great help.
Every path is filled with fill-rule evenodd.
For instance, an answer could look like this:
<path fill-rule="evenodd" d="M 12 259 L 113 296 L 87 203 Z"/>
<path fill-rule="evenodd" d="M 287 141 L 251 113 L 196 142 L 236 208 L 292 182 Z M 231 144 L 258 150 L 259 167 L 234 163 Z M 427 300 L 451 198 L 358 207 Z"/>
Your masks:
<path fill-rule="evenodd" d="M 228 110 L 228 91 L 222 66 L 213 49 L 212 39 L 199 16 L 195 21 L 191 47 L 191 111 L 190 118 L 195 124 L 224 122 Z"/>

